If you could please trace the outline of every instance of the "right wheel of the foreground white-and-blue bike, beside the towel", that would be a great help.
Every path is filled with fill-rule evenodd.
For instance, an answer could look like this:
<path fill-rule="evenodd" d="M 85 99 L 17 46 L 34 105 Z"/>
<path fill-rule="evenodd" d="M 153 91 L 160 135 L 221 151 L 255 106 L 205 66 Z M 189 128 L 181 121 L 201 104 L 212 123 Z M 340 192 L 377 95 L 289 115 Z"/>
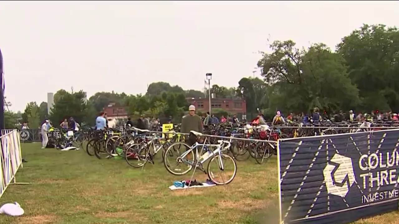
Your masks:
<path fill-rule="evenodd" d="M 223 169 L 220 168 L 220 161 L 223 164 Z M 232 165 L 229 164 L 230 162 L 232 162 Z M 211 166 L 213 166 L 213 164 L 216 165 L 215 169 L 217 169 L 217 171 L 215 172 L 211 171 Z M 233 169 L 232 171 L 230 170 L 231 168 Z M 207 173 L 209 179 L 213 181 L 213 183 L 217 185 L 226 185 L 233 181 L 233 179 L 235 178 L 235 175 L 237 174 L 237 163 L 231 156 L 227 154 L 221 154 L 221 156 L 215 155 L 208 163 Z M 216 173 L 221 174 L 221 180 L 215 177 Z"/>

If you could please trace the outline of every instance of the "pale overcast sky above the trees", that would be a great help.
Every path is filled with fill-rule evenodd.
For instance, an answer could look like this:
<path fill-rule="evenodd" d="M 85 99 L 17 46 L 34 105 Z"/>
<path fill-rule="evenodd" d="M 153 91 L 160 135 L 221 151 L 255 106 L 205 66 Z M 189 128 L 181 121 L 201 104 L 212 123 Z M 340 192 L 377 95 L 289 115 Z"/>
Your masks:
<path fill-rule="evenodd" d="M 238 86 L 267 38 L 330 47 L 363 23 L 399 23 L 397 1 L 0 1 L 11 110 L 60 88 L 145 93 Z"/>

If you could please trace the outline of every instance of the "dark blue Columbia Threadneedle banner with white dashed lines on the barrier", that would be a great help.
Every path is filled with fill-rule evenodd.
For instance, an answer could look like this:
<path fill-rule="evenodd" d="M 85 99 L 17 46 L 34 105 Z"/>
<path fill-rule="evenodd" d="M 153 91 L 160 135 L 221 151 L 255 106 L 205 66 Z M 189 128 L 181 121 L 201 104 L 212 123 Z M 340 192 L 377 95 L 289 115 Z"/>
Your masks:
<path fill-rule="evenodd" d="M 281 140 L 284 224 L 338 224 L 398 210 L 399 130 Z"/>

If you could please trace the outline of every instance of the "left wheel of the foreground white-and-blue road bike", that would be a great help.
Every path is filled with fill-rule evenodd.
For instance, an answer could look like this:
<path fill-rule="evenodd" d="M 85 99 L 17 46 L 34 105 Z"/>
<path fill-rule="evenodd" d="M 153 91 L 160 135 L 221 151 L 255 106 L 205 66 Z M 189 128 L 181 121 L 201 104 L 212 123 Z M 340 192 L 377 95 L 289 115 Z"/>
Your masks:
<path fill-rule="evenodd" d="M 185 175 L 186 173 L 190 172 L 193 169 L 193 166 L 190 165 L 188 162 L 194 164 L 194 152 L 190 151 L 188 156 L 184 158 L 180 158 L 182 153 L 184 153 L 187 149 L 191 147 L 183 142 L 176 142 L 173 143 L 166 149 L 164 155 L 164 166 L 169 173 L 173 175 Z M 172 166 L 172 164 L 176 164 Z"/>

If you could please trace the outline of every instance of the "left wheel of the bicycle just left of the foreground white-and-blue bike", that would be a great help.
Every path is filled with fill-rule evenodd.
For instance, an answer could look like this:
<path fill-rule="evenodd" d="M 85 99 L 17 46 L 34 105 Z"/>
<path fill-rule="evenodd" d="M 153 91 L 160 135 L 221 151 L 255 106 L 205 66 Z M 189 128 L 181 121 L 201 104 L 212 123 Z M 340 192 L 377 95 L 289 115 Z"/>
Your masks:
<path fill-rule="evenodd" d="M 148 149 L 141 144 L 132 144 L 126 150 L 124 157 L 131 167 L 142 167 L 148 161 Z"/>

